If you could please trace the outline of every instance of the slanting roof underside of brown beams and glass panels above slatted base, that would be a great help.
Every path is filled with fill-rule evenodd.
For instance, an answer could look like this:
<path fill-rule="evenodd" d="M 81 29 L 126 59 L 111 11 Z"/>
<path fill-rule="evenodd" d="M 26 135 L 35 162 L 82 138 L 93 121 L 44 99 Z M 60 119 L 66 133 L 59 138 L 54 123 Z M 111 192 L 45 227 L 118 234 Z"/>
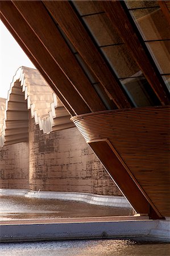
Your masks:
<path fill-rule="evenodd" d="M 71 115 L 105 110 L 107 115 L 107 110 L 169 105 L 169 1 L 162 2 L 1 1 L 1 19 Z M 104 162 L 100 147 L 108 146 L 100 142 L 94 147 Z M 169 179 L 167 171 L 164 175 Z M 144 195 L 143 212 L 165 216 L 139 185 L 140 178 L 131 179 L 141 193 L 134 208 Z M 126 195 L 123 177 L 119 187 Z"/>

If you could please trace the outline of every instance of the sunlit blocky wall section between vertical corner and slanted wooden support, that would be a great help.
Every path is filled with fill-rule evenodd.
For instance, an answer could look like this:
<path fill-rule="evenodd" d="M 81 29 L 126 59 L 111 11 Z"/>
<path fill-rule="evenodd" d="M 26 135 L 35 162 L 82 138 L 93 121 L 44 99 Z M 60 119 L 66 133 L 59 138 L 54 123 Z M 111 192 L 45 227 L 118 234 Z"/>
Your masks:
<path fill-rule="evenodd" d="M 122 195 L 76 127 L 43 134 L 30 120 L 30 189 Z"/>

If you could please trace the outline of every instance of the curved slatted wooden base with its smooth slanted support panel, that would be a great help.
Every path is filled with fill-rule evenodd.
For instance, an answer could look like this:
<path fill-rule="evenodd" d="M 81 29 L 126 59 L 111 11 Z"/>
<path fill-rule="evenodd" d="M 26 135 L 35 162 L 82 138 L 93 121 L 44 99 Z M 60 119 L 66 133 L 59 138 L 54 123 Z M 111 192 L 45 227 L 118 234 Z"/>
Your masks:
<path fill-rule="evenodd" d="M 142 195 L 135 201 L 140 190 L 153 218 L 170 216 L 169 114 L 169 106 L 159 106 L 72 117 L 135 210 L 142 210 Z"/>

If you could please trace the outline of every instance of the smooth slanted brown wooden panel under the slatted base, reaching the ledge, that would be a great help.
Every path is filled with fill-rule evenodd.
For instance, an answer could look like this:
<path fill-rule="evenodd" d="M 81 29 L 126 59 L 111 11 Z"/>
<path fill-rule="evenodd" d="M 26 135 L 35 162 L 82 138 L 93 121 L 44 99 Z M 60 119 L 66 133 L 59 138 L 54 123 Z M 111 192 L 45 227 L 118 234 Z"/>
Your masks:
<path fill-rule="evenodd" d="M 135 208 L 136 212 L 149 214 L 149 204 L 137 185 L 131 179 L 121 161 L 114 154 L 108 141 L 89 142 L 90 147 L 101 160 L 115 183 Z M 126 180 L 126 182 L 125 182 Z M 134 196 L 135 195 L 135 196 Z"/>

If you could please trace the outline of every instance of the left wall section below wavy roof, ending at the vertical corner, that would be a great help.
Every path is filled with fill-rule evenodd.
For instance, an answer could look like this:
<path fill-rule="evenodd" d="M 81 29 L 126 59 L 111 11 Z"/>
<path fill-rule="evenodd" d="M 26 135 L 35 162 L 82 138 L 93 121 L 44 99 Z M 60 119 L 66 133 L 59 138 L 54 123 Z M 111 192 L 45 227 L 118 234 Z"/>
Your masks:
<path fill-rule="evenodd" d="M 29 146 L 27 142 L 0 148 L 0 188 L 29 189 Z"/>

